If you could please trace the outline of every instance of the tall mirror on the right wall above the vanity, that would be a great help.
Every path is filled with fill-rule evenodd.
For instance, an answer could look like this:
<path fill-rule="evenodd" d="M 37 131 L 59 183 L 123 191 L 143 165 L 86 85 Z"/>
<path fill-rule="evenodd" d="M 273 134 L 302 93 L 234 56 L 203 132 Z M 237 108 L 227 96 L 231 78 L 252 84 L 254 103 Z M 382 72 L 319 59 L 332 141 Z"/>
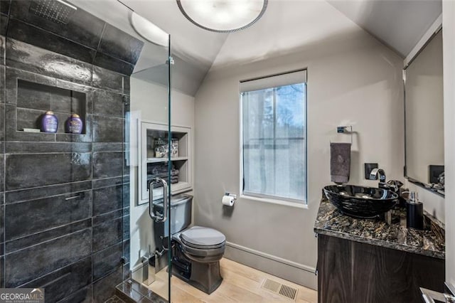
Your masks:
<path fill-rule="evenodd" d="M 442 30 L 405 68 L 405 177 L 444 195 Z"/>

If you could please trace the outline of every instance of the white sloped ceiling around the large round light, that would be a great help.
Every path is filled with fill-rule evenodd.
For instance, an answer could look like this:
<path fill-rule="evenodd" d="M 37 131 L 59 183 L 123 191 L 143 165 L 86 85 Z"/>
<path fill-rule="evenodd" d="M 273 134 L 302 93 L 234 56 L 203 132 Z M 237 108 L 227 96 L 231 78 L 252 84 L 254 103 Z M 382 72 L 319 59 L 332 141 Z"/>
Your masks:
<path fill-rule="evenodd" d="M 441 0 L 269 0 L 254 26 L 228 34 L 193 25 L 176 0 L 120 1 L 70 0 L 137 38 L 129 24 L 131 10 L 169 33 L 176 61 L 172 87 L 187 95 L 196 95 L 212 66 L 288 53 L 350 26 L 360 26 L 405 58 L 441 14 Z M 133 76 L 166 83 L 166 58 L 166 48 L 146 42 Z"/>

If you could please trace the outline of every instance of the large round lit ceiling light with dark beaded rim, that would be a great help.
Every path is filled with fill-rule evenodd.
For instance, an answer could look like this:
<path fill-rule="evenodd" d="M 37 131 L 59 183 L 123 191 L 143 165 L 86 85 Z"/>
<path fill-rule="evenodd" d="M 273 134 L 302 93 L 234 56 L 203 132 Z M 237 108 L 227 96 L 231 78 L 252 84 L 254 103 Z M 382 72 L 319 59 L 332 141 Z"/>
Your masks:
<path fill-rule="evenodd" d="M 176 0 L 191 23 L 207 31 L 233 33 L 259 21 L 268 0 Z"/>

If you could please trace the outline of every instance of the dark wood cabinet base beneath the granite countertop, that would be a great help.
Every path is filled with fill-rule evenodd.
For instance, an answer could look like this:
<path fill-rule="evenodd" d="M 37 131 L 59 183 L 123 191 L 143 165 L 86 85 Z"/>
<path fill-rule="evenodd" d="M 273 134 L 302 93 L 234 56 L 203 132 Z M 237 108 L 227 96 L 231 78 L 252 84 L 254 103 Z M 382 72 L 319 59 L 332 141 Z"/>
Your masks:
<path fill-rule="evenodd" d="M 444 292 L 444 260 L 318 235 L 318 302 L 422 302 Z"/>

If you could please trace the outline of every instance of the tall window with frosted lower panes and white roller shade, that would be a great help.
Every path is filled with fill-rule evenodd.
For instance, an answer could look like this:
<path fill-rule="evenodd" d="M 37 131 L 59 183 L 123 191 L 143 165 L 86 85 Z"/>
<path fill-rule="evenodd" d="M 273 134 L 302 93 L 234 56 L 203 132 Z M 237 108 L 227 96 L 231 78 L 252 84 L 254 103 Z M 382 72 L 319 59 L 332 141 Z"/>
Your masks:
<path fill-rule="evenodd" d="M 243 194 L 306 203 L 306 70 L 240 83 Z"/>

